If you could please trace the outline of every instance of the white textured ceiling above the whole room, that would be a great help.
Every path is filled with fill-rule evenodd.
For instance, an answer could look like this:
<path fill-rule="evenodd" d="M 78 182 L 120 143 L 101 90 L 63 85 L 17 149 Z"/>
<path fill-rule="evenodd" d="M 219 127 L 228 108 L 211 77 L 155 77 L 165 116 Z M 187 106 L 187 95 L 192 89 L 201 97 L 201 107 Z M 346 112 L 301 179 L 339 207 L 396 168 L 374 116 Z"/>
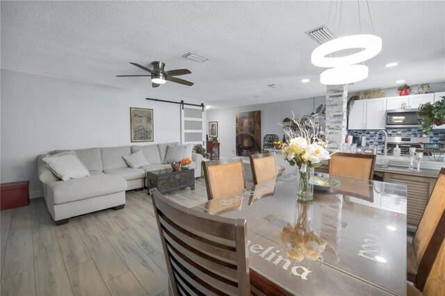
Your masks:
<path fill-rule="evenodd" d="M 362 32 L 372 33 L 366 2 Z M 1 67 L 179 95 L 213 106 L 242 106 L 315 97 L 322 68 L 310 63 L 318 45 L 305 31 L 327 23 L 330 1 L 1 1 Z M 357 1 L 343 1 L 336 35 L 359 33 Z M 382 52 L 365 63 L 369 78 L 350 90 L 445 81 L 444 1 L 369 1 Z M 189 51 L 209 58 L 182 58 Z M 188 68 L 188 87 L 149 78 L 129 62 Z M 399 65 L 386 68 L 386 63 Z M 301 79 L 309 78 L 309 83 Z M 282 88 L 268 88 L 277 83 Z"/>

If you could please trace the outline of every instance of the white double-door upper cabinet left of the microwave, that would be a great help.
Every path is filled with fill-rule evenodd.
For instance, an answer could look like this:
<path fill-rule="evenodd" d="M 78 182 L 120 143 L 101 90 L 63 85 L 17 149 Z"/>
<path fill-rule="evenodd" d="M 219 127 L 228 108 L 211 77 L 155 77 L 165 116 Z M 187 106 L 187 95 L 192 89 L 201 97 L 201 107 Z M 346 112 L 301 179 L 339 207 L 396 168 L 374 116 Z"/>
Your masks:
<path fill-rule="evenodd" d="M 348 129 L 385 129 L 387 98 L 355 101 Z"/>

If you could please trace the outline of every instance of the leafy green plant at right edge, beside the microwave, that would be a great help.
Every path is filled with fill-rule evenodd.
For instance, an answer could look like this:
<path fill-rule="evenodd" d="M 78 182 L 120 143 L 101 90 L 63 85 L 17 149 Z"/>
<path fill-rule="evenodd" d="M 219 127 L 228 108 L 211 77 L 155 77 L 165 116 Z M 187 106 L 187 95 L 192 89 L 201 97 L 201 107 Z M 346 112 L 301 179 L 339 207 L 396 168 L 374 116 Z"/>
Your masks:
<path fill-rule="evenodd" d="M 445 96 L 442 100 L 431 104 L 421 104 L 417 110 L 417 117 L 422 122 L 422 131 L 424 135 L 431 134 L 431 128 L 434 124 L 445 124 Z"/>

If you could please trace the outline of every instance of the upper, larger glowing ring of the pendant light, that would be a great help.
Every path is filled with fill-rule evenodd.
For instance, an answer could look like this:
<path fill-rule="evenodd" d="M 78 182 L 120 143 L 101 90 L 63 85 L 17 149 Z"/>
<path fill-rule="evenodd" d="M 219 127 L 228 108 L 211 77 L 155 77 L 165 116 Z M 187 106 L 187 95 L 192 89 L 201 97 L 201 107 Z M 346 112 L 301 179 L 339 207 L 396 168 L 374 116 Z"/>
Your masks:
<path fill-rule="evenodd" d="M 339 58 L 330 57 L 343 49 L 362 50 Z M 317 67 L 341 67 L 362 63 L 377 56 L 380 51 L 382 51 L 382 38 L 371 34 L 350 35 L 321 44 L 312 51 L 311 61 Z"/>

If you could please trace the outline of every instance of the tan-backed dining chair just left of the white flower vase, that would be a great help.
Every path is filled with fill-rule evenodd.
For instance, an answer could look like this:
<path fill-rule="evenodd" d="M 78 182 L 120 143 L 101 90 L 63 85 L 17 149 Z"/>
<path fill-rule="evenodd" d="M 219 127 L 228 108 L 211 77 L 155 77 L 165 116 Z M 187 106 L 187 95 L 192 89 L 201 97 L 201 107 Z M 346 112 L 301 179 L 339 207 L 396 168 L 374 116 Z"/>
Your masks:
<path fill-rule="evenodd" d="M 275 153 L 252 154 L 250 156 L 253 185 L 275 179 L 278 176 Z"/>

